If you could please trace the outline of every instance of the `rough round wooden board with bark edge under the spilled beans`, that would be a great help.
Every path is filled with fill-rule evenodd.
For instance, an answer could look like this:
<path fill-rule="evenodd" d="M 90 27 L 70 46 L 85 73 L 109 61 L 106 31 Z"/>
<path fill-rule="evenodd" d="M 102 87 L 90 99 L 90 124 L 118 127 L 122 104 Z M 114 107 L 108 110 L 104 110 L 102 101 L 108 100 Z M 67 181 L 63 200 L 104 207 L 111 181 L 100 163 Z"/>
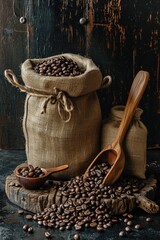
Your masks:
<path fill-rule="evenodd" d="M 140 207 L 149 213 L 157 213 L 159 206 L 152 200 L 155 197 L 157 180 L 149 177 L 145 182 L 145 187 L 140 194 L 128 196 L 121 199 L 103 199 L 107 208 L 112 214 L 123 214 Z M 5 192 L 8 199 L 27 211 L 37 213 L 44 208 L 50 208 L 53 203 L 60 205 L 65 202 L 65 197 L 60 197 L 58 183 L 46 182 L 40 190 L 28 190 L 20 186 L 14 174 L 6 178 Z M 152 200 L 151 200 L 152 199 Z"/>

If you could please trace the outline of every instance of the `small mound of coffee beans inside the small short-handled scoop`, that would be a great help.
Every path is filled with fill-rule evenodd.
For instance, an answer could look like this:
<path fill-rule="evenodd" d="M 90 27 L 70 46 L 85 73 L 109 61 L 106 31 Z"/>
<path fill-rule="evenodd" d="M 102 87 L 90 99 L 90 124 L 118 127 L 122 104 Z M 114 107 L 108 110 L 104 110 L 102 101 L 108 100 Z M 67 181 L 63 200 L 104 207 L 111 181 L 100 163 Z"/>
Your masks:
<path fill-rule="evenodd" d="M 19 174 L 22 177 L 30 177 L 30 178 L 37 178 L 44 176 L 44 172 L 40 167 L 33 167 L 31 164 L 28 165 L 28 167 L 22 167 L 19 170 Z"/>

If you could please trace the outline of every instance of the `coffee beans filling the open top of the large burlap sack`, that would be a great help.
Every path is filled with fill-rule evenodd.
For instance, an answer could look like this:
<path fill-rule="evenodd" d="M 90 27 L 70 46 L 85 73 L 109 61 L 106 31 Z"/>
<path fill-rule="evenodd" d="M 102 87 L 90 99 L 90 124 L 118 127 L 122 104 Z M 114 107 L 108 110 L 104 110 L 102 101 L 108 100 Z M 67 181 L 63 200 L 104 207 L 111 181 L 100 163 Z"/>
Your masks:
<path fill-rule="evenodd" d="M 34 70 L 44 76 L 71 76 L 75 77 L 84 72 L 76 62 L 65 56 L 57 56 L 37 63 Z"/>

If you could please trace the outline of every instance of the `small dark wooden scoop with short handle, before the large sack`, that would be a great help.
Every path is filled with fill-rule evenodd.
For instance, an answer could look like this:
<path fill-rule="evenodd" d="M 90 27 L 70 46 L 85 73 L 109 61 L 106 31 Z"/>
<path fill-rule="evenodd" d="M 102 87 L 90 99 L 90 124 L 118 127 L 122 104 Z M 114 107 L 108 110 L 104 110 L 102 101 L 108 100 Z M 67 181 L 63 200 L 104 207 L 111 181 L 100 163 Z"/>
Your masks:
<path fill-rule="evenodd" d="M 26 189 L 38 189 L 43 186 L 45 181 L 48 179 L 48 177 L 55 172 L 60 172 L 68 168 L 68 165 L 62 165 L 59 167 L 55 168 L 41 168 L 42 172 L 44 175 L 42 177 L 36 177 L 36 178 L 31 178 L 31 177 L 23 177 L 20 175 L 20 170 L 24 167 L 28 167 L 27 164 L 24 164 L 21 167 L 17 167 L 14 170 L 14 174 L 16 178 L 18 179 L 19 183 Z"/>

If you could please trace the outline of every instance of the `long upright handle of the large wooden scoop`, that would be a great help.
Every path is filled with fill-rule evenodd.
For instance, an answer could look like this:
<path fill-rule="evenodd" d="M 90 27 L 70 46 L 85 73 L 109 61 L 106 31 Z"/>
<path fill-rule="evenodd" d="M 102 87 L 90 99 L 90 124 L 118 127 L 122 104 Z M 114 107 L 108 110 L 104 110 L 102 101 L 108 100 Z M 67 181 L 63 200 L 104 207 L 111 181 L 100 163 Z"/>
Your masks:
<path fill-rule="evenodd" d="M 148 80 L 149 73 L 146 71 L 139 71 L 134 78 L 122 117 L 122 121 L 113 145 L 116 145 L 116 143 L 122 144 L 128 126 L 134 116 L 135 110 L 148 84 Z"/>

